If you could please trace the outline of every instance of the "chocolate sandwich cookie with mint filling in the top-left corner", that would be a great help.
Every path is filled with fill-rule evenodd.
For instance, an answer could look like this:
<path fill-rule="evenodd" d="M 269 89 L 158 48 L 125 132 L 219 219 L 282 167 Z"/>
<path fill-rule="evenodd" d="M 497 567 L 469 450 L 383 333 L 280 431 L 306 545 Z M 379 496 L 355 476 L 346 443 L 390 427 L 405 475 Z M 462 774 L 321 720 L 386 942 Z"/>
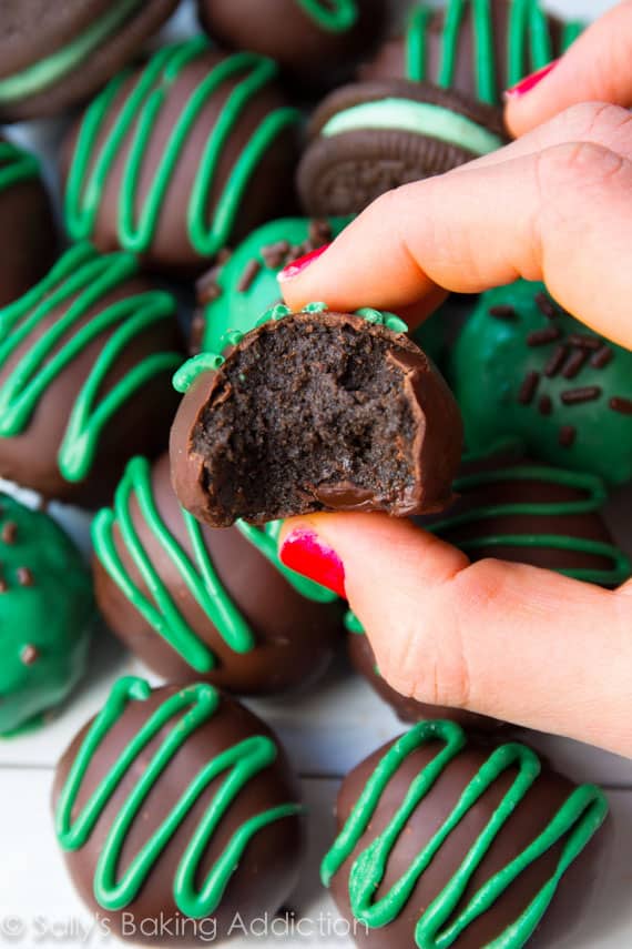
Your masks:
<path fill-rule="evenodd" d="M 177 0 L 3 0 L 0 122 L 88 99 L 162 27 Z"/>

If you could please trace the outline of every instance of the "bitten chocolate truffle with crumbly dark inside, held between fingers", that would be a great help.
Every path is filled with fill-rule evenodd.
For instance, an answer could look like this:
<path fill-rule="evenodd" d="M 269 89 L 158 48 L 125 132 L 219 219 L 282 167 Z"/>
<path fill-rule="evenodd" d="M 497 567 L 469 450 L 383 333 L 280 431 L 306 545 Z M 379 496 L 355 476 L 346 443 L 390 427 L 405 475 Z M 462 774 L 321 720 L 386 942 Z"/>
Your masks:
<path fill-rule="evenodd" d="M 390 385 L 379 411 L 384 411 L 387 420 L 390 413 L 398 412 L 407 423 L 406 431 L 389 433 L 390 442 L 386 446 L 389 460 L 399 465 L 397 478 L 390 468 L 385 467 L 380 470 L 379 476 L 374 473 L 373 484 L 354 484 L 354 463 L 358 458 L 364 461 L 366 446 L 360 447 L 356 442 L 345 444 L 339 446 L 339 451 L 348 457 L 340 458 L 337 455 L 338 446 L 334 445 L 336 415 L 354 413 L 356 408 L 361 411 L 364 396 L 371 385 L 371 380 L 357 378 L 366 354 L 353 356 L 345 352 L 344 341 L 347 337 L 354 344 L 365 346 L 366 350 L 374 347 L 378 353 L 377 365 L 388 374 Z M 246 360 L 258 360 L 262 352 L 272 352 L 275 346 L 284 353 L 284 359 L 283 373 L 279 373 L 278 382 L 275 381 L 274 385 L 277 392 L 281 386 L 288 406 L 295 403 L 297 393 L 302 391 L 305 366 L 310 367 L 307 372 L 312 374 L 314 366 L 318 366 L 317 382 L 323 381 L 323 390 L 317 393 L 312 390 L 314 402 L 306 412 L 318 410 L 318 445 L 328 448 L 330 454 L 325 453 L 317 472 L 307 474 L 307 468 L 302 468 L 305 472 L 302 479 L 296 473 L 299 482 L 288 484 L 290 494 L 277 501 L 278 505 L 287 505 L 284 509 L 276 509 L 276 506 L 275 509 L 268 508 L 266 498 L 247 499 L 247 479 L 254 475 L 234 465 L 228 470 L 223 447 L 225 440 L 231 444 L 233 437 L 242 438 L 247 433 L 224 431 L 221 416 L 224 406 L 230 405 L 231 401 L 233 405 L 239 405 L 239 396 L 234 394 L 237 384 L 243 386 L 243 398 L 251 397 L 247 380 L 243 383 L 230 382 L 232 369 L 241 365 L 243 355 Z M 295 352 L 302 346 L 305 347 L 303 355 L 296 357 Z M 351 364 L 353 375 L 345 382 L 346 366 Z M 364 366 L 363 370 L 367 372 Z M 293 378 L 294 372 L 296 380 Z M 303 375 L 299 377 L 300 372 Z M 349 396 L 349 391 L 357 395 Z M 350 408 L 349 402 L 353 402 Z M 246 402 L 243 404 L 247 405 Z M 254 410 L 249 407 L 248 411 L 253 424 L 258 424 Z M 302 433 L 309 431 L 312 421 L 303 415 L 300 424 L 296 418 L 282 432 L 283 420 L 274 411 L 269 412 L 266 403 L 266 420 L 268 416 L 266 445 L 269 446 L 269 438 L 274 437 L 269 432 L 276 428 L 279 445 L 283 446 L 279 451 L 295 461 L 298 446 L 289 442 L 293 437 L 303 437 Z M 208 438 L 213 437 L 208 431 L 217 418 L 217 442 L 208 445 Z M 369 438 L 374 437 L 378 436 L 369 435 Z M 203 373 L 195 380 L 180 406 L 172 428 L 172 477 L 181 504 L 198 521 L 217 527 L 230 526 L 236 517 L 262 524 L 316 511 L 387 511 L 397 516 L 407 516 L 441 511 L 451 499 L 450 485 L 460 461 L 461 440 L 460 415 L 448 386 L 408 336 L 357 315 L 329 311 L 297 313 L 263 323 L 244 336 L 220 370 Z M 303 447 L 305 452 L 308 451 L 308 447 Z M 319 454 L 323 455 L 323 450 Z M 267 457 L 267 461 L 261 461 L 262 465 L 272 464 L 273 458 L 269 455 Z M 305 465 L 312 464 L 312 460 L 307 455 L 305 457 Z M 278 463 L 278 458 L 274 463 Z M 404 467 L 405 482 L 400 475 Z M 258 473 L 264 477 L 267 474 L 266 471 Z M 315 478 L 313 482 L 309 481 L 312 477 Z M 226 501 L 226 478 L 233 478 L 232 501 Z M 242 478 L 242 483 L 235 483 L 238 478 Z M 242 503 L 244 497 L 245 505 Z M 236 512 L 237 505 L 244 509 Z M 255 506 L 257 509 L 254 509 Z"/>

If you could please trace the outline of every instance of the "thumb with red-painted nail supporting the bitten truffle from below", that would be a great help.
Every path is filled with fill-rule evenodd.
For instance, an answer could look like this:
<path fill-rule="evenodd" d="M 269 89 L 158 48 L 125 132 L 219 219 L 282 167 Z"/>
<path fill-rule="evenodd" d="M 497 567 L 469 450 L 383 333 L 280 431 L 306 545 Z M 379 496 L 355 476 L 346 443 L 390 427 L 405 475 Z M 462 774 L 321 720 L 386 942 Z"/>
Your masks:
<path fill-rule="evenodd" d="M 286 522 L 281 558 L 344 594 L 406 696 L 632 756 L 632 597 L 465 554 L 381 514 Z"/>

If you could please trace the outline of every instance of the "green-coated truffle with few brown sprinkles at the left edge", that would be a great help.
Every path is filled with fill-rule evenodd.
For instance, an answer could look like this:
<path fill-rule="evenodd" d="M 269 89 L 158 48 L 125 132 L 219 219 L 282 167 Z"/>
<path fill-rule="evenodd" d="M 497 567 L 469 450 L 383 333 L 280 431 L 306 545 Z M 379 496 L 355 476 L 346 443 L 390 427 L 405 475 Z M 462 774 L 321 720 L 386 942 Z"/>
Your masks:
<path fill-rule="evenodd" d="M 0 494 L 0 735 L 39 725 L 83 675 L 94 602 L 51 517 Z"/>

